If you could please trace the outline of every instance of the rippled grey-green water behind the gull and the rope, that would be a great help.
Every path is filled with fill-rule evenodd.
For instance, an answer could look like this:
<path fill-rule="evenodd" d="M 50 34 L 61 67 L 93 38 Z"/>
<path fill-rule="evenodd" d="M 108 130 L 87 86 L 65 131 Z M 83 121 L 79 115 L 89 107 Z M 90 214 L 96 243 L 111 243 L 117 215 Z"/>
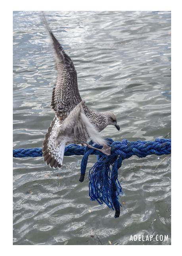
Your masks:
<path fill-rule="evenodd" d="M 40 12 L 13 13 L 14 148 L 42 147 L 54 118 L 56 70 Z M 113 111 L 121 127 L 114 140 L 170 138 L 171 13 L 46 12 L 52 31 L 73 59 L 82 99 Z M 43 158 L 13 159 L 14 244 L 171 244 L 171 156 L 123 161 L 121 215 L 89 201 L 81 156 L 61 170 Z M 168 235 L 169 241 L 130 241 L 130 235 Z"/>

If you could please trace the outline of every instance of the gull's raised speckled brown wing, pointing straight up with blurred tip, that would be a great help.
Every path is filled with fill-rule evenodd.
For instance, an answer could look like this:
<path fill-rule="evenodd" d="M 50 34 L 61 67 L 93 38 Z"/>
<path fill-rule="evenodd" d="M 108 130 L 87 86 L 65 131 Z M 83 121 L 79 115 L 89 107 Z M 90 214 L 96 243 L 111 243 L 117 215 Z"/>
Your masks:
<path fill-rule="evenodd" d="M 78 89 L 77 71 L 71 58 L 52 33 L 44 14 L 43 21 L 52 41 L 57 68 L 57 82 L 52 92 L 51 107 L 56 113 L 68 115 L 82 100 Z"/>

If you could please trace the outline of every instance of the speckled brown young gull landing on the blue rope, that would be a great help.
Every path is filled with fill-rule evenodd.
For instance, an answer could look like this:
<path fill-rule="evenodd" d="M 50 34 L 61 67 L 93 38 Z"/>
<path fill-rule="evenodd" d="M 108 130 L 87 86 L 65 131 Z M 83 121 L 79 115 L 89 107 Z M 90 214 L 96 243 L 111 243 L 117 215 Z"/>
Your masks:
<path fill-rule="evenodd" d="M 65 145 L 74 143 L 87 145 L 91 139 L 94 143 L 103 145 L 97 149 L 106 155 L 111 154 L 111 147 L 103 139 L 100 132 L 107 125 L 114 125 L 119 131 L 117 119 L 112 112 L 97 112 L 90 109 L 82 100 L 77 83 L 77 71 L 71 58 L 52 33 L 43 14 L 43 22 L 48 31 L 54 50 L 57 69 L 57 81 L 52 91 L 51 108 L 55 117 L 48 128 L 43 142 L 44 162 L 60 169 L 63 162 Z"/>

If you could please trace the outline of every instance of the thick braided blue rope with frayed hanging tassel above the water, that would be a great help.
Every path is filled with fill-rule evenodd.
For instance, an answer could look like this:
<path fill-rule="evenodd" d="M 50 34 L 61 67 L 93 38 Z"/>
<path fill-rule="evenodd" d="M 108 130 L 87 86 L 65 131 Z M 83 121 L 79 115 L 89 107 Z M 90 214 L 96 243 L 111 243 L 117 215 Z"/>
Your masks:
<path fill-rule="evenodd" d="M 96 149 L 81 147 L 70 144 L 65 147 L 65 156 L 83 155 L 81 162 L 80 182 L 84 181 L 88 156 L 97 155 L 97 162 L 89 171 L 89 196 L 90 200 L 98 203 L 105 203 L 109 208 L 115 209 L 115 218 L 119 217 L 120 206 L 119 195 L 122 195 L 122 188 L 118 180 L 118 169 L 122 162 L 131 156 L 146 157 L 150 154 L 158 156 L 171 154 L 171 139 L 155 139 L 155 141 L 113 141 L 107 138 L 108 145 L 111 147 L 111 155 L 106 156 Z M 101 145 L 90 143 L 97 149 Z M 37 157 L 42 156 L 42 148 L 34 149 L 13 149 L 13 157 Z"/>

